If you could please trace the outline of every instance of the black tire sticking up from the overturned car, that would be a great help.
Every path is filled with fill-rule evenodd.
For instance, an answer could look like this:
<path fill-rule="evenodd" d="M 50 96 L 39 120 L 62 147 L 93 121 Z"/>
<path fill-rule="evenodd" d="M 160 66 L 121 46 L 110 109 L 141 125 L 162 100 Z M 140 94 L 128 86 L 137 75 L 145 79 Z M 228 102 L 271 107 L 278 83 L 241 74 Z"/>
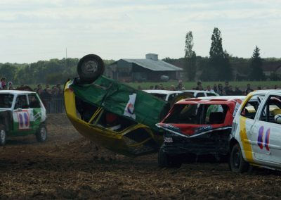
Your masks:
<path fill-rule="evenodd" d="M 88 54 L 80 59 L 77 65 L 79 83 L 88 84 L 94 82 L 105 70 L 105 64 L 100 56 Z"/>

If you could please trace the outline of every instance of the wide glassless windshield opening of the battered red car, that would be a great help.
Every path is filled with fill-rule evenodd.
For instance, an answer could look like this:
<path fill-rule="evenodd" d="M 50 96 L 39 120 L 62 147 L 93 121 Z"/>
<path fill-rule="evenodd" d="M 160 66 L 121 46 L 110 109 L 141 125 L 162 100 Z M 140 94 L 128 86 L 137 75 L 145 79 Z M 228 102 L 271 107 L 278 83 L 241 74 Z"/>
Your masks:
<path fill-rule="evenodd" d="M 224 104 L 176 104 L 164 123 L 176 124 L 222 124 L 228 106 Z"/>

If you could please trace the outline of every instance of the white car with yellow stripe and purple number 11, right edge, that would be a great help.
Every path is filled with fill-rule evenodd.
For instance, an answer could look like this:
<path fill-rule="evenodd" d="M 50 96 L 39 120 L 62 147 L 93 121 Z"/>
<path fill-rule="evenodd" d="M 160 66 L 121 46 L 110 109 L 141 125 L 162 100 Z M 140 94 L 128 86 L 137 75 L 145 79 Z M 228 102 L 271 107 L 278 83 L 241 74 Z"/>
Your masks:
<path fill-rule="evenodd" d="M 281 170 L 281 90 L 251 92 L 233 120 L 230 169 L 249 165 Z"/>

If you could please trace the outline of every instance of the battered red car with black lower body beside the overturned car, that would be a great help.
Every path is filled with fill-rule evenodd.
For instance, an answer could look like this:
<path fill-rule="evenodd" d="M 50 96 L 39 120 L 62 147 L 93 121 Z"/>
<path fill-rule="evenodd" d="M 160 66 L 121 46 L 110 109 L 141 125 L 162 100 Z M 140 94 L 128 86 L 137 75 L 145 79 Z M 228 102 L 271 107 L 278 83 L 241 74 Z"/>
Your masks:
<path fill-rule="evenodd" d="M 244 96 L 214 96 L 174 104 L 157 124 L 165 130 L 159 167 L 179 167 L 200 155 L 226 157 L 233 118 L 243 99 Z"/>

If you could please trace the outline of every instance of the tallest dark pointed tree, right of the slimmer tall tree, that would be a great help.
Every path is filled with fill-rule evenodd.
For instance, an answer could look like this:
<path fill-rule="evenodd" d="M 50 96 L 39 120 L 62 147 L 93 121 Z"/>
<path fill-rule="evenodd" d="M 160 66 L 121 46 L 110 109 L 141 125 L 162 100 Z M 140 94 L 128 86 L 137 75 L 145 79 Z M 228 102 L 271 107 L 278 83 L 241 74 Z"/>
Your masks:
<path fill-rule="evenodd" d="M 232 80 L 230 56 L 227 51 L 223 51 L 222 42 L 221 31 L 215 27 L 211 35 L 209 65 L 203 69 L 202 80 Z"/>

